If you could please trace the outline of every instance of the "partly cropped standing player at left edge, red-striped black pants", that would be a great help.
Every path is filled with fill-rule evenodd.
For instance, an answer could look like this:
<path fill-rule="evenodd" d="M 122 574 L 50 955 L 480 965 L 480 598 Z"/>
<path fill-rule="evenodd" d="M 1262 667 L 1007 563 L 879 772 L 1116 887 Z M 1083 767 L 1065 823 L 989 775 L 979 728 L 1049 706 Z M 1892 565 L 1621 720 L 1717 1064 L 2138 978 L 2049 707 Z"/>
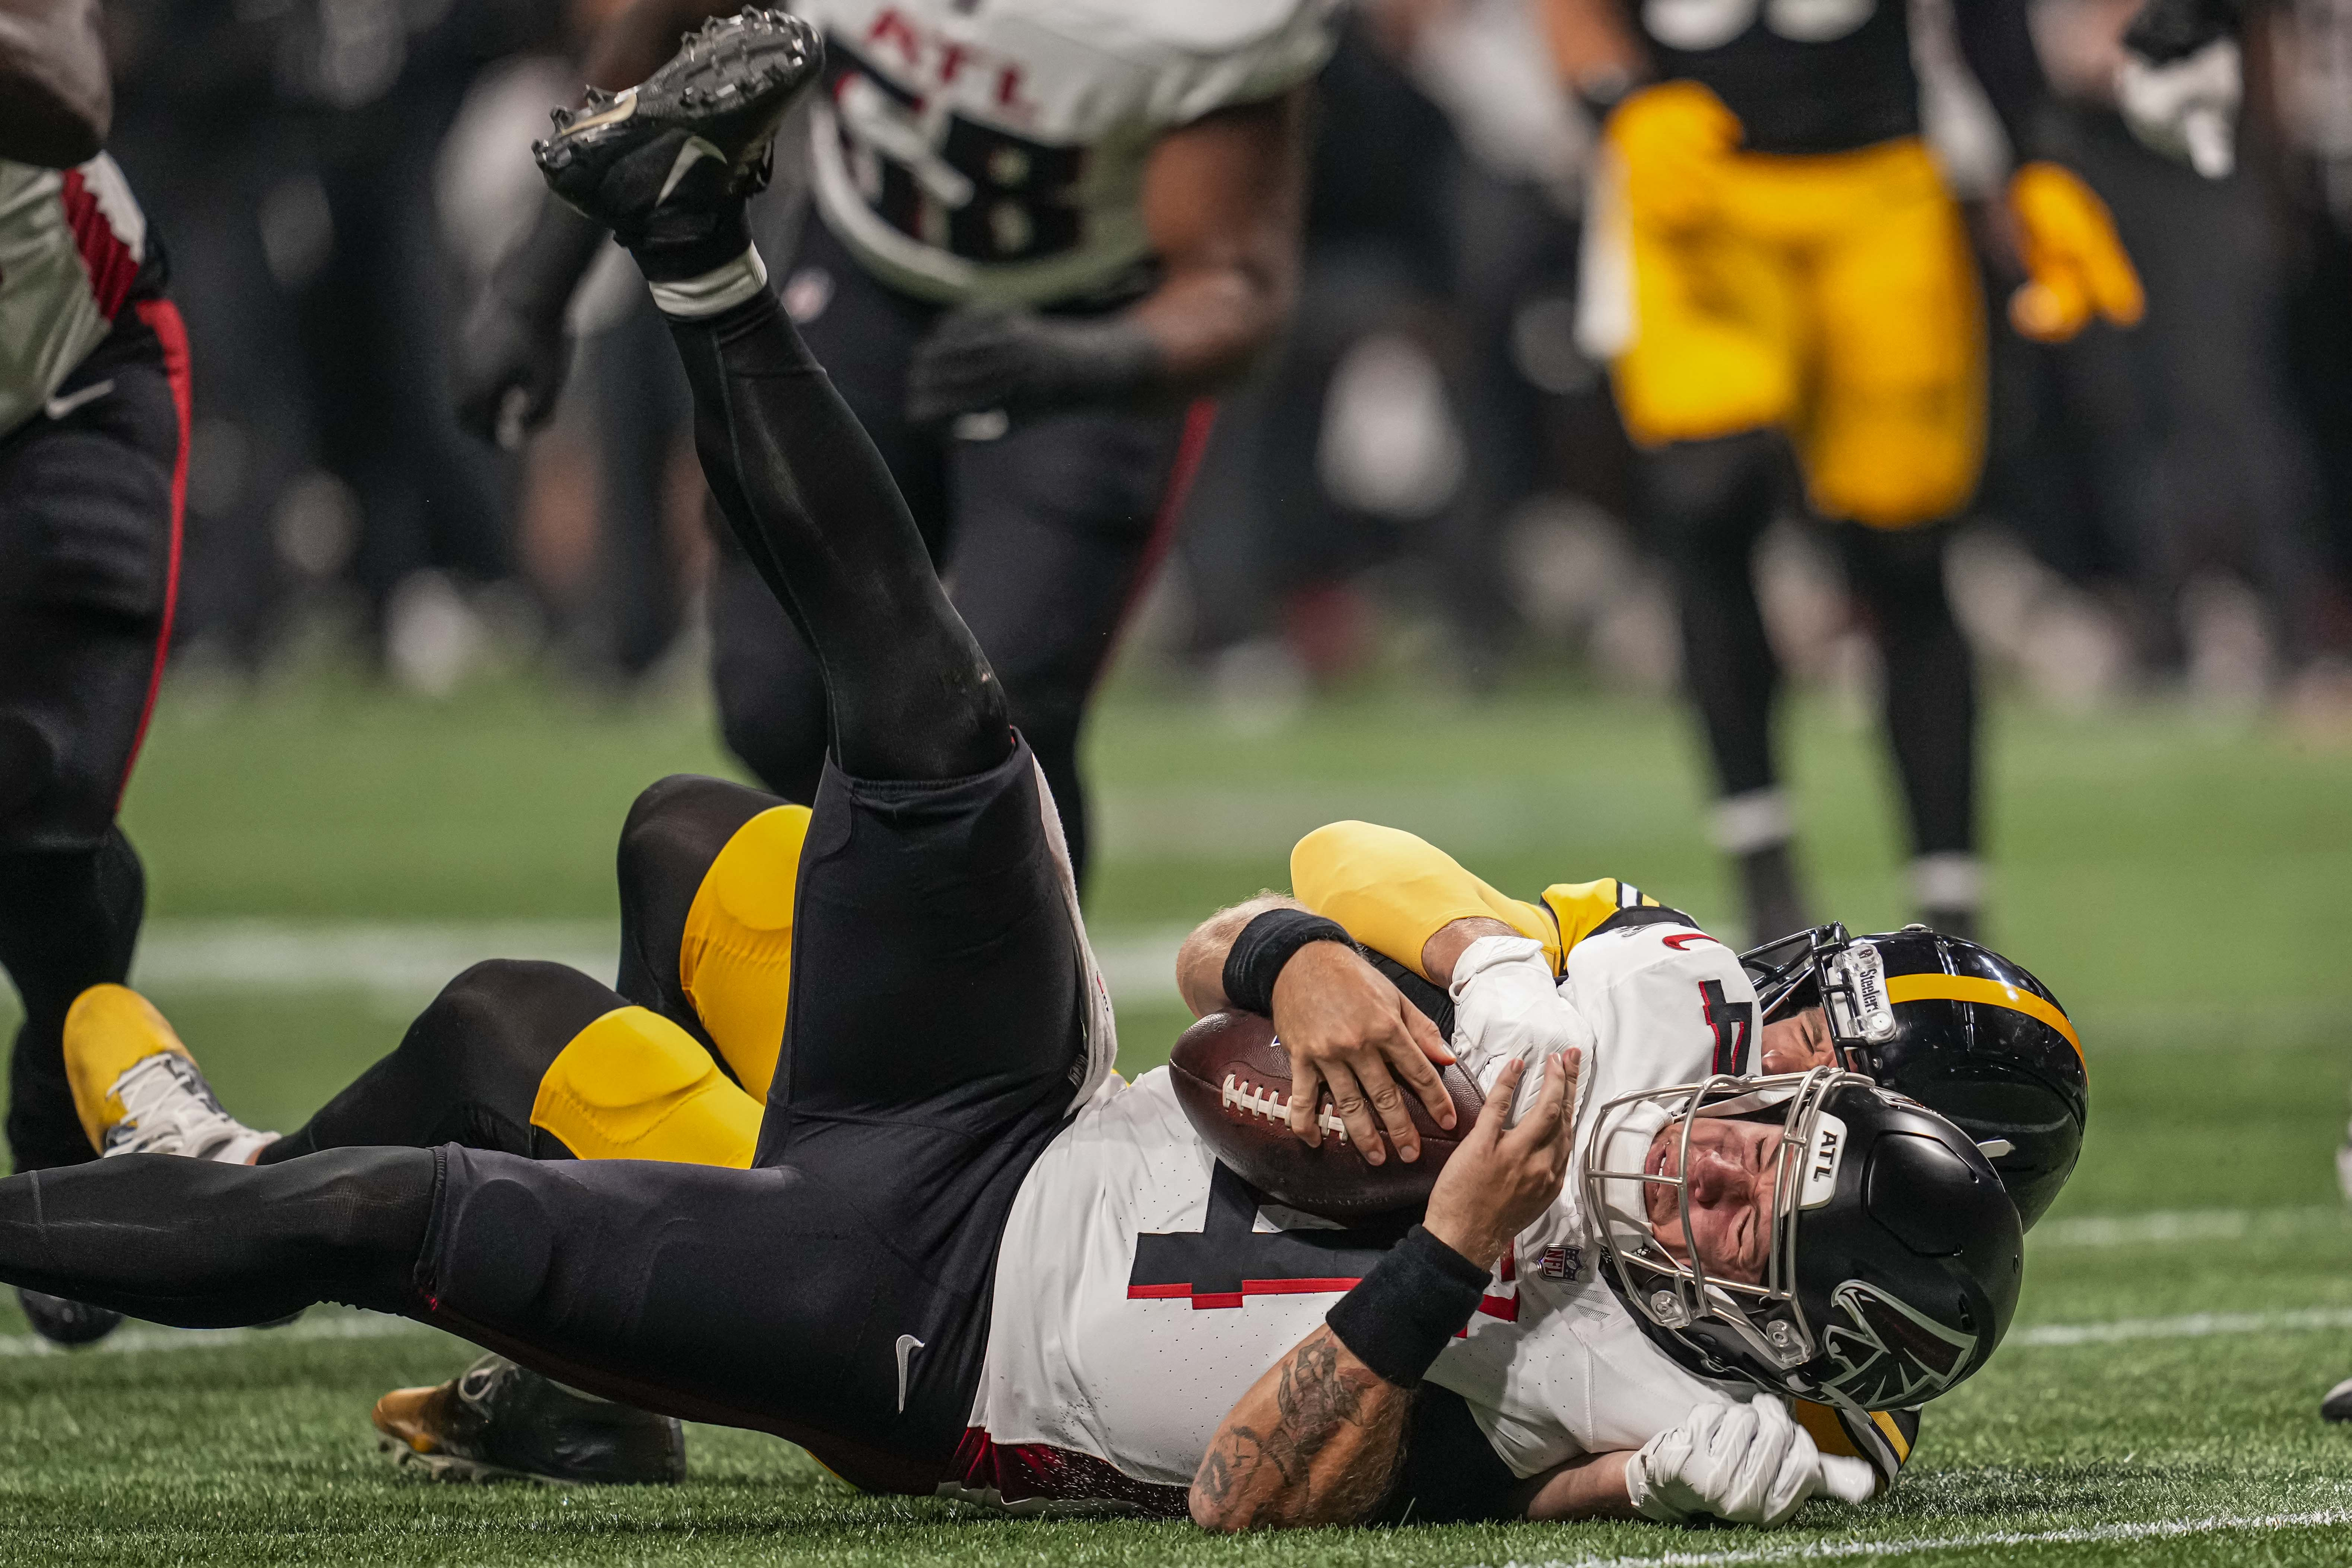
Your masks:
<path fill-rule="evenodd" d="M 66 1009 L 129 973 L 146 875 L 115 825 L 172 637 L 188 339 L 115 162 L 94 0 L 0 2 L 0 966 L 19 1171 L 92 1159 Z M 19 1291 L 49 1340 L 113 1312 Z"/>

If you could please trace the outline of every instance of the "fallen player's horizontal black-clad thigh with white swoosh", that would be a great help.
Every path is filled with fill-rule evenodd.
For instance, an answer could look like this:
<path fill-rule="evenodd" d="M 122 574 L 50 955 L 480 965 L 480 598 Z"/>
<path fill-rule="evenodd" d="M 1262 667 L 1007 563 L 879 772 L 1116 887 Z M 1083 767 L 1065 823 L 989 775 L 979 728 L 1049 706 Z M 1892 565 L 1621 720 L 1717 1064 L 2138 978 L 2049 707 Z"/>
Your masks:
<path fill-rule="evenodd" d="M 414 1316 L 602 1399 L 804 1443 L 856 1486 L 934 1490 L 983 1335 L 924 1340 L 906 1375 L 901 1335 L 941 1321 L 934 1260 L 870 1229 L 856 1192 L 795 1168 L 437 1157 Z"/>

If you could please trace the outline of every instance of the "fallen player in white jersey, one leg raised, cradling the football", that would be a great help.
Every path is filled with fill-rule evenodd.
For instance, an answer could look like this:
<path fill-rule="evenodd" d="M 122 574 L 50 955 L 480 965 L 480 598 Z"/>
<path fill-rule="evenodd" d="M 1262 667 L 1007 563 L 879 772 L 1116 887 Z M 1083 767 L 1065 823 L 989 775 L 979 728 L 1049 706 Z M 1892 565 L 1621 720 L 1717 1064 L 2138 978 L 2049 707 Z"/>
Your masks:
<path fill-rule="evenodd" d="M 0 1180 L 0 1279 L 191 1326 L 346 1300 L 790 1436 L 866 1488 L 1033 1509 L 1778 1523 L 1867 1495 L 1778 1396 L 1875 1410 L 1971 1375 L 2016 1302 L 2016 1211 L 1959 1128 L 1867 1079 L 1748 1077 L 1745 973 L 1670 910 L 1578 943 L 1564 992 L 1543 973 L 1555 1034 L 1534 1065 L 1475 1063 L 1484 1110 L 1418 1225 L 1284 1213 L 1164 1072 L 1115 1088 L 1037 762 L 750 247 L 743 193 L 816 68 L 811 28 L 743 12 L 539 146 L 652 284 L 706 475 L 823 654 L 793 912 L 818 980 L 746 1166 L 174 1157 L 226 1117 L 160 1018 L 94 987 L 75 1006 L 155 1048 L 78 1093 L 113 1157 Z M 1232 926 L 1190 945 L 1204 1004 L 1265 1009 L 1303 952 L 1355 957 L 1298 907 Z M 1456 1006 L 1517 997 L 1524 947 L 1470 940 Z M 647 1058 L 642 1013 L 553 964 L 482 966 L 428 1009 L 485 1048 L 600 1032 Z"/>

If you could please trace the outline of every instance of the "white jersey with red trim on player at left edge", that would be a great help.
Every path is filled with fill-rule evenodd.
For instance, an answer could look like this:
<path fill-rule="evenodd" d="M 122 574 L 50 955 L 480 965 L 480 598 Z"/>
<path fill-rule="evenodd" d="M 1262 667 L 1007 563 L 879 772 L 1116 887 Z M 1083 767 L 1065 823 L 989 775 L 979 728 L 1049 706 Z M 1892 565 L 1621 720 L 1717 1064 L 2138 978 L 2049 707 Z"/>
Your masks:
<path fill-rule="evenodd" d="M 40 414 L 113 329 L 143 261 L 146 216 L 113 158 L 0 160 L 0 433 Z"/>

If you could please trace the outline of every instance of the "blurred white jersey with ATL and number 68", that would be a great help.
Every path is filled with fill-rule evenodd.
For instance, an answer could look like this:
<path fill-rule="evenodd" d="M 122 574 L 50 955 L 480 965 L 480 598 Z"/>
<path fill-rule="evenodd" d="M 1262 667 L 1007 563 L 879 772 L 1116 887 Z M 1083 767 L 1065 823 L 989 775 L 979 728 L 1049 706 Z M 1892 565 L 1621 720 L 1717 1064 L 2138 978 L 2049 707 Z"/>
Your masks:
<path fill-rule="evenodd" d="M 1150 254 L 1152 141 L 1308 80 L 1338 0 L 793 0 L 826 33 L 816 205 L 884 282 L 1042 306 Z"/>

